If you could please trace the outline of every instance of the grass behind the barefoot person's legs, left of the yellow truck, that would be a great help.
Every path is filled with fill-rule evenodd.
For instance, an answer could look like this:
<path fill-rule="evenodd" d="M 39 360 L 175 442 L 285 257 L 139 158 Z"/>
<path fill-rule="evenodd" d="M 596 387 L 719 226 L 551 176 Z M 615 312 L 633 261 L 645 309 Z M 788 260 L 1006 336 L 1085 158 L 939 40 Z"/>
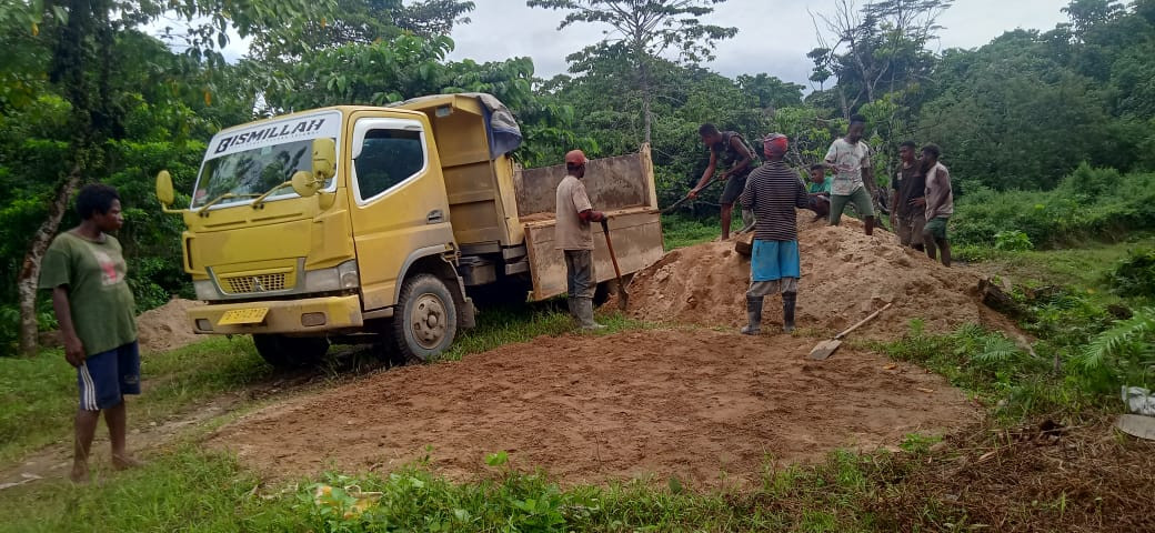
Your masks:
<path fill-rule="evenodd" d="M 206 341 L 141 358 L 143 390 L 132 401 L 129 422 L 162 420 L 189 405 L 267 377 L 247 337 Z M 0 358 L 0 465 L 52 444 L 70 442 L 76 412 L 76 371 L 60 350 L 30 359 Z"/>

